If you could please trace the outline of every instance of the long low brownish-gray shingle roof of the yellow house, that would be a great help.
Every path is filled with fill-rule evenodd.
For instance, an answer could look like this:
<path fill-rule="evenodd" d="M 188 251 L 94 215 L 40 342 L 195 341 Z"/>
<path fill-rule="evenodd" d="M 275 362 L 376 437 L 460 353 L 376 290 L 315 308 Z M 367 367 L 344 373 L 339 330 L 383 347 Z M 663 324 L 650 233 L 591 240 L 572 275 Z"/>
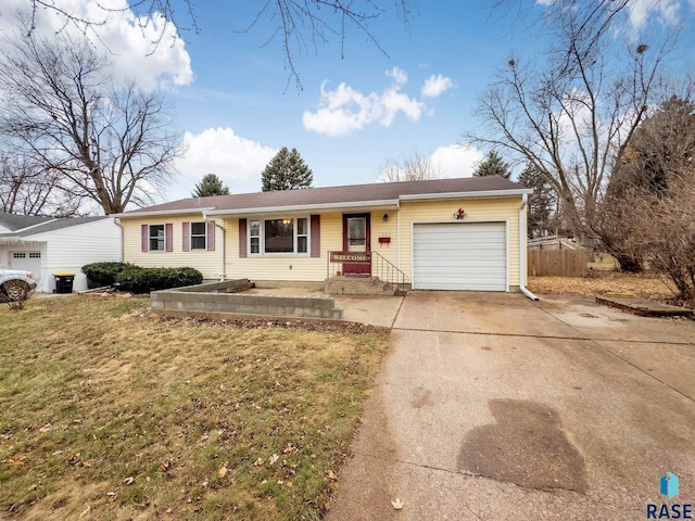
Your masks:
<path fill-rule="evenodd" d="M 137 217 L 142 214 L 164 214 L 167 212 L 224 212 L 253 211 L 256 208 L 291 208 L 364 204 L 374 202 L 395 202 L 403 198 L 435 194 L 462 194 L 490 196 L 489 192 L 513 192 L 527 190 L 522 185 L 500 176 L 466 177 L 454 179 L 433 179 L 426 181 L 377 182 L 371 185 L 348 185 L 343 187 L 309 188 L 304 190 L 278 190 L 274 192 L 241 193 L 215 195 L 211 198 L 188 198 L 170 203 L 157 204 L 146 208 L 119 214 L 119 217 Z M 482 192 L 485 192 L 484 194 Z"/>

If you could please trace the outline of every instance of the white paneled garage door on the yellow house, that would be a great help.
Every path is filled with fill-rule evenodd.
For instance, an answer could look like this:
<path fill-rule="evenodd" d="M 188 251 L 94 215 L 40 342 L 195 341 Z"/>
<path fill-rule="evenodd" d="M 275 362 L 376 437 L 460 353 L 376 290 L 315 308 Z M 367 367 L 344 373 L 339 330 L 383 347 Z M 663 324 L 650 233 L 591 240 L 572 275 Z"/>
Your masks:
<path fill-rule="evenodd" d="M 438 223 L 413 227 L 416 290 L 507 290 L 504 223 Z"/>

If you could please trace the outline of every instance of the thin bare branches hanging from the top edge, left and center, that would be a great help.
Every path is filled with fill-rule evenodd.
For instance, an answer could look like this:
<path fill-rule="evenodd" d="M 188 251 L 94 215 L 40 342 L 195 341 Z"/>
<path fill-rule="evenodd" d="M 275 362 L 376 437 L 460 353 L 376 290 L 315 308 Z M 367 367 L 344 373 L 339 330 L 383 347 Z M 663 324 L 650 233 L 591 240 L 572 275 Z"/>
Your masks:
<path fill-rule="evenodd" d="M 28 33 L 31 34 L 37 25 L 37 10 L 46 9 L 60 15 L 64 21 L 64 27 L 74 26 L 80 33 L 90 35 L 99 40 L 98 27 L 106 23 L 109 13 L 114 11 L 131 10 L 136 14 L 138 23 L 150 24 L 155 14 L 164 21 L 159 37 L 153 41 L 159 46 L 167 34 L 167 26 L 174 24 L 177 34 L 180 30 L 193 30 L 199 33 L 200 27 L 195 17 L 195 9 L 191 0 L 182 0 L 184 18 L 177 10 L 177 2 L 172 0 L 136 0 L 128 2 L 123 8 L 110 8 L 104 3 L 98 7 L 103 16 L 90 17 L 73 12 L 64 7 L 60 0 L 26 0 L 31 7 L 31 18 Z M 258 10 L 253 20 L 249 21 L 245 28 L 239 33 L 250 33 L 261 25 L 261 21 L 269 22 L 270 31 L 265 46 L 279 42 L 285 55 L 286 67 L 289 72 L 288 81 L 294 79 L 301 89 L 300 74 L 295 65 L 295 58 L 309 50 L 317 52 L 320 45 L 337 38 L 340 41 L 341 58 L 345 53 L 345 38 L 349 29 L 357 29 L 364 37 L 370 40 L 375 47 L 387 54 L 380 46 L 379 39 L 371 29 L 370 24 L 389 10 L 395 11 L 395 16 L 401 17 L 407 26 L 410 9 L 408 0 L 262 0 L 257 2 Z M 142 25 L 144 33 L 147 25 Z M 144 35 L 143 35 L 144 36 Z"/>

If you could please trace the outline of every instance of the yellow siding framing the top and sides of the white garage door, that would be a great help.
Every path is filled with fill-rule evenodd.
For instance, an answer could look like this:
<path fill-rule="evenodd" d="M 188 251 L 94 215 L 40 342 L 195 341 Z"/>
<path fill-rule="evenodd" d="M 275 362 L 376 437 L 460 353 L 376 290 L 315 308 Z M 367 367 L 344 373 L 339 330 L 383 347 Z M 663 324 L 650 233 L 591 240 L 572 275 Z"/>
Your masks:
<path fill-rule="evenodd" d="M 519 285 L 519 206 L 521 198 L 458 201 L 401 202 L 401 270 L 413 276 L 412 237 L 414 223 L 456 223 L 454 212 L 466 212 L 466 221 L 507 223 L 509 285 Z"/>

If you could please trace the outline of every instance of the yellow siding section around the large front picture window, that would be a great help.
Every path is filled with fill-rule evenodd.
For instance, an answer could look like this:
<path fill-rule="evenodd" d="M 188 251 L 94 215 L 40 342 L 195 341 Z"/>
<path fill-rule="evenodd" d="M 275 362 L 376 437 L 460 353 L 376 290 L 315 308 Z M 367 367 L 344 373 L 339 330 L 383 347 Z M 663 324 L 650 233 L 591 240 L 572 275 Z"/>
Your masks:
<path fill-rule="evenodd" d="M 226 219 L 226 276 L 228 279 L 323 281 L 328 269 L 326 252 L 343 247 L 342 219 L 342 214 L 320 216 L 320 257 L 274 254 L 244 258 L 239 257 L 239 219 Z"/>

